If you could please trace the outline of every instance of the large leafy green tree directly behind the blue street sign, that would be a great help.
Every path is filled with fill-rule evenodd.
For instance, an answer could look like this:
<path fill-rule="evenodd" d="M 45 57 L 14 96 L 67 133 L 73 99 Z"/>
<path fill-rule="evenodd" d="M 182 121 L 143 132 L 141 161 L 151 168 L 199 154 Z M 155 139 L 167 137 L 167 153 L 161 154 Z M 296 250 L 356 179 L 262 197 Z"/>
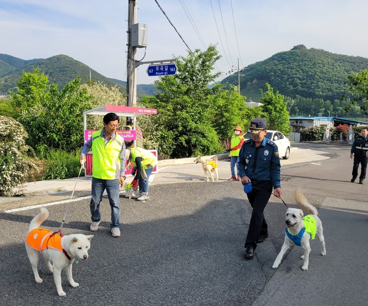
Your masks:
<path fill-rule="evenodd" d="M 142 98 L 143 105 L 158 111 L 154 121 L 160 155 L 182 158 L 221 151 L 209 111 L 212 95 L 220 90 L 220 85 L 209 88 L 219 75 L 211 73 L 219 58 L 212 45 L 176 58 L 179 73 L 155 81 L 156 94 Z"/>

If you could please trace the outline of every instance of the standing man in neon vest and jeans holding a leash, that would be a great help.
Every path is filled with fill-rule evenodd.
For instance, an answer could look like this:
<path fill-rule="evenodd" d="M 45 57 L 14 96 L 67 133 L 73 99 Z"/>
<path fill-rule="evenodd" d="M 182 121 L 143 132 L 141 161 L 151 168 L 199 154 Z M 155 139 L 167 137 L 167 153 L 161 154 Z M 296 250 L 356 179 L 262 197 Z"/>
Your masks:
<path fill-rule="evenodd" d="M 119 116 L 108 113 L 103 117 L 103 129 L 94 132 L 84 144 L 80 162 L 85 161 L 85 155 L 92 150 L 92 191 L 89 203 L 92 223 L 89 230 L 96 232 L 101 222 L 100 202 L 106 189 L 111 207 L 111 234 L 120 237 L 120 198 L 119 185 L 124 186 L 125 180 L 125 143 L 116 130 Z"/>

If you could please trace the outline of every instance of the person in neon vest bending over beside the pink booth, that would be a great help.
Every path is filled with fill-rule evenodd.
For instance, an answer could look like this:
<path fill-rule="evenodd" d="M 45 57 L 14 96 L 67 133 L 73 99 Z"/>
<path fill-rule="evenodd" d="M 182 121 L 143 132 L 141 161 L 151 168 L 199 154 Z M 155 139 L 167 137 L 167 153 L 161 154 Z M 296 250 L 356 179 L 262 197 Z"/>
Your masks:
<path fill-rule="evenodd" d="M 127 165 L 132 163 L 136 170 L 134 180 L 131 183 L 132 187 L 134 189 L 137 188 L 137 183 L 139 182 L 139 194 L 132 196 L 132 198 L 138 201 L 146 201 L 149 199 L 148 183 L 153 168 L 157 163 L 156 157 L 152 152 L 140 147 L 126 149 L 125 156 Z"/>

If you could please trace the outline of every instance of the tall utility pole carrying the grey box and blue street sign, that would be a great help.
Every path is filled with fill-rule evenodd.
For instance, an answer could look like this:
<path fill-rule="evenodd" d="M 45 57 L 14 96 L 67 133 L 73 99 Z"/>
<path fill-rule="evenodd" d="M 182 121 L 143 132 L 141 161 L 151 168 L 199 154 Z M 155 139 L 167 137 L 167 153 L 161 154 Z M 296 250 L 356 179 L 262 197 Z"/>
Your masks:
<path fill-rule="evenodd" d="M 128 56 L 127 56 L 127 102 L 131 107 L 136 104 L 136 47 L 131 46 L 132 25 L 137 22 L 136 0 L 129 0 L 128 7 Z M 132 118 L 130 118 L 132 119 Z"/>

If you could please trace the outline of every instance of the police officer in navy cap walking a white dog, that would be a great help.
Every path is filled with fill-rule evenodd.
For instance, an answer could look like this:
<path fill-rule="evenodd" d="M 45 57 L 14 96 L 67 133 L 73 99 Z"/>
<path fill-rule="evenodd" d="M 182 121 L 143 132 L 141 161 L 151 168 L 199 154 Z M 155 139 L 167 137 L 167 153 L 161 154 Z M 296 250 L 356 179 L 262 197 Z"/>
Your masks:
<path fill-rule="evenodd" d="M 272 194 L 281 198 L 280 157 L 277 145 L 265 138 L 266 121 L 254 119 L 250 122 L 249 132 L 252 139 L 244 140 L 239 152 L 239 172 L 241 182 L 252 184 L 252 190 L 247 193 L 252 214 L 248 234 L 245 240 L 245 258 L 252 259 L 257 243 L 268 237 L 267 222 L 263 211 Z"/>

